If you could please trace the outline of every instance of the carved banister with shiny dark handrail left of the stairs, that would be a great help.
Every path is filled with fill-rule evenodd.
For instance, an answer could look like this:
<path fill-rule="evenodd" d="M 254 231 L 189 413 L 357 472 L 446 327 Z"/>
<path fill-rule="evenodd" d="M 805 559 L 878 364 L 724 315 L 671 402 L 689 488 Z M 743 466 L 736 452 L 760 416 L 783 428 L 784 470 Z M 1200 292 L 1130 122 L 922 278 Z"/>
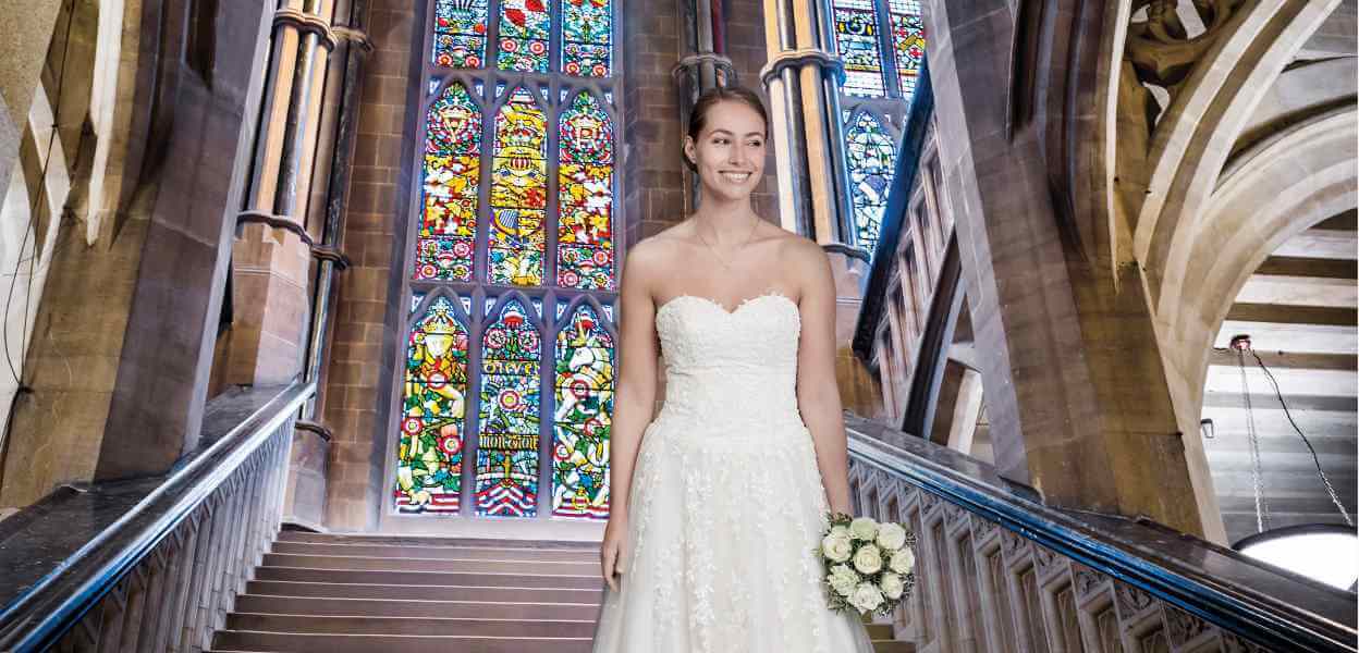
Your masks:
<path fill-rule="evenodd" d="M 314 394 L 223 395 L 167 475 L 64 487 L 0 523 L 0 652 L 207 649 L 279 529 Z"/>

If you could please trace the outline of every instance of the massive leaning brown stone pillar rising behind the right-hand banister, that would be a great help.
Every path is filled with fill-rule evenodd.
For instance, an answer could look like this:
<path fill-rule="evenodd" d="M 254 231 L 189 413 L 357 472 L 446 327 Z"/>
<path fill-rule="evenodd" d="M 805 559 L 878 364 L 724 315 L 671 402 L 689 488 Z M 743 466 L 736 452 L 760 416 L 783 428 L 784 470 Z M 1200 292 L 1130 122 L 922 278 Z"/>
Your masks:
<path fill-rule="evenodd" d="M 1083 67 L 1098 57 L 1078 50 L 1057 60 L 1023 100 L 1031 118 L 1012 121 L 1000 92 L 1023 29 L 1012 4 L 927 4 L 940 164 L 999 472 L 1055 506 L 1204 534 L 1137 266 L 1110 261 L 1116 231 L 1080 240 L 1087 234 L 1072 227 L 1063 200 L 1089 193 L 1065 174 L 1087 162 L 1064 159 L 1045 132 L 1094 113 L 1082 103 L 1089 87 L 1063 84 L 1090 84 L 1097 75 Z M 1113 11 L 1102 7 L 1072 0 L 1052 10 L 1061 22 L 1034 37 L 1040 52 L 1098 43 L 1101 12 Z M 1093 143 L 1087 133 L 1072 129 L 1071 138 Z"/>

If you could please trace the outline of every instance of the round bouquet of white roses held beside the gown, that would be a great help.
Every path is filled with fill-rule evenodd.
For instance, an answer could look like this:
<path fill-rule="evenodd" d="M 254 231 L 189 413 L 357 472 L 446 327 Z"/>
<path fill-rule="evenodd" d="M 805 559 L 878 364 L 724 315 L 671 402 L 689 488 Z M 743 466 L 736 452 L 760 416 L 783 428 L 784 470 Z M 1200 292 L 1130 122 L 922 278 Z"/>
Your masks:
<path fill-rule="evenodd" d="M 916 536 L 902 524 L 832 513 L 830 528 L 817 547 L 826 567 L 830 608 L 890 614 L 915 586 L 915 546 Z"/>

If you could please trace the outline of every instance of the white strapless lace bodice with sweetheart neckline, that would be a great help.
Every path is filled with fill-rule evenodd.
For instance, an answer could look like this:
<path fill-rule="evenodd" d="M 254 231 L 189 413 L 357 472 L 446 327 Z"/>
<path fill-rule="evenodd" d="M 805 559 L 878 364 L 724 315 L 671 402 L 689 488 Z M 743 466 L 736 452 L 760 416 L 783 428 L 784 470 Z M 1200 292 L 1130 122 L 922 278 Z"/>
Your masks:
<path fill-rule="evenodd" d="M 692 295 L 666 301 L 656 310 L 666 367 L 658 421 L 680 418 L 724 437 L 749 433 L 743 425 L 800 426 L 800 331 L 798 304 L 781 293 L 750 297 L 735 311 Z"/>

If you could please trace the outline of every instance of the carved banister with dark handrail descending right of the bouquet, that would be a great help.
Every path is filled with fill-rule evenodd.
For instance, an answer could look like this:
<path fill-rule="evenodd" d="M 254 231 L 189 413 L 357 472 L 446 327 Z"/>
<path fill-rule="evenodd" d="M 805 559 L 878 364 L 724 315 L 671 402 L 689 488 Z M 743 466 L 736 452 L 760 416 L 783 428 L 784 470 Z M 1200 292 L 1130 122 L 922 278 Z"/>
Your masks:
<path fill-rule="evenodd" d="M 920 538 L 919 653 L 1355 652 L 1355 595 L 1159 524 L 1045 506 L 981 462 L 845 417 L 858 515 Z"/>

